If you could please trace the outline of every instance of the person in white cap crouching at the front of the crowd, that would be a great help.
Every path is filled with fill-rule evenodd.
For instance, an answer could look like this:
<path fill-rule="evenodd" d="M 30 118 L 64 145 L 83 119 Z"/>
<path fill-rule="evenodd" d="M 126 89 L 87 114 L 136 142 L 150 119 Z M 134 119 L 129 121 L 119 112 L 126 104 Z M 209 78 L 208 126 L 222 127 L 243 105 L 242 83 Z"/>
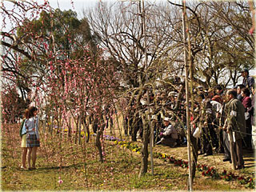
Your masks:
<path fill-rule="evenodd" d="M 162 144 L 165 146 L 174 147 L 177 146 L 178 132 L 175 130 L 174 126 L 170 123 L 170 118 L 164 118 L 163 124 L 165 128 L 160 133 L 160 142 L 157 144 Z"/>

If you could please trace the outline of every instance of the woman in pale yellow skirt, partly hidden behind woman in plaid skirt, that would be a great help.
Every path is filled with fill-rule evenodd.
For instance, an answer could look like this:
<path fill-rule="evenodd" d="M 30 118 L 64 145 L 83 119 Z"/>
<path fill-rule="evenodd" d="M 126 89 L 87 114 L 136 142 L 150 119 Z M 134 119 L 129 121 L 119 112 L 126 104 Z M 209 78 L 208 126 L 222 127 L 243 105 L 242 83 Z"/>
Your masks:
<path fill-rule="evenodd" d="M 19 135 L 22 138 L 22 166 L 21 169 L 26 169 L 26 154 L 27 154 L 27 147 L 26 147 L 26 127 L 25 121 L 28 118 L 29 110 L 26 109 L 24 113 L 24 119 L 22 120 L 22 126 L 19 130 Z"/>

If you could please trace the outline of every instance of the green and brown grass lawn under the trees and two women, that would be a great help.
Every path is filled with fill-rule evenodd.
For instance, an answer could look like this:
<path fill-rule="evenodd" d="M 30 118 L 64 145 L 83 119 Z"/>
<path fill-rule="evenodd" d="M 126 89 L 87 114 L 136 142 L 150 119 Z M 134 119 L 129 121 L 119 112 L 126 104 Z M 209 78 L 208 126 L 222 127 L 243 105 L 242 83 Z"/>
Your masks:
<path fill-rule="evenodd" d="M 105 142 L 106 162 L 98 161 L 94 138 L 85 145 L 58 135 L 42 136 L 38 170 L 19 170 L 20 141 L 3 135 L 2 190 L 186 190 L 188 170 L 154 159 L 154 176 L 138 178 L 140 155 Z M 11 144 L 10 144 L 11 143 Z M 62 184 L 59 184 L 59 179 Z M 197 172 L 194 190 L 245 190 L 234 182 L 202 177 Z"/>

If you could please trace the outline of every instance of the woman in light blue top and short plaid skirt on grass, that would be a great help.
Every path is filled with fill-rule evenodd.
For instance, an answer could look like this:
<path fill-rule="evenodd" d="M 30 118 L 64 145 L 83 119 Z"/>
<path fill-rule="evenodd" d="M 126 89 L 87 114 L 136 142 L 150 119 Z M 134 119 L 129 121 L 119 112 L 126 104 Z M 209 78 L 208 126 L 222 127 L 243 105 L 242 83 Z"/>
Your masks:
<path fill-rule="evenodd" d="M 34 106 L 31 106 L 28 111 L 28 115 L 26 116 L 26 147 L 28 147 L 29 151 L 27 154 L 27 162 L 29 170 L 35 170 L 35 161 L 37 159 L 37 150 L 38 146 L 40 146 L 39 141 L 39 121 L 36 115 L 38 114 L 38 109 Z M 30 157 L 32 154 L 32 167 L 30 166 Z"/>

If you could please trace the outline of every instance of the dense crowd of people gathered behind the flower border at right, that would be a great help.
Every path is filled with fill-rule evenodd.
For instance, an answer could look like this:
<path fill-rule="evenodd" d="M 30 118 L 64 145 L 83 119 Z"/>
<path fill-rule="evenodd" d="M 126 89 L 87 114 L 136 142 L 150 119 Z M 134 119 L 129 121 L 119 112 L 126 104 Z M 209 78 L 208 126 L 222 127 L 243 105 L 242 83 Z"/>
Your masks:
<path fill-rule="evenodd" d="M 198 154 L 208 156 L 215 150 L 224 154 L 224 162 L 231 162 L 231 133 L 238 169 L 244 167 L 242 149 L 253 151 L 252 126 L 255 123 L 254 78 L 249 76 L 249 70 L 246 69 L 242 71 L 242 77 L 243 82 L 233 89 L 225 90 L 220 85 L 210 89 L 196 87 L 193 112 L 190 114 L 192 134 L 198 138 Z M 140 106 L 136 106 L 134 101 L 126 108 L 126 134 L 130 134 L 133 141 L 142 138 L 143 127 L 147 126 L 145 119 L 150 114 L 155 144 L 170 147 L 186 144 L 185 95 L 178 102 L 178 91 L 159 91 L 157 94 L 149 94 L 150 105 L 147 99 L 145 93 Z M 191 110 L 192 102 L 188 105 Z"/>

